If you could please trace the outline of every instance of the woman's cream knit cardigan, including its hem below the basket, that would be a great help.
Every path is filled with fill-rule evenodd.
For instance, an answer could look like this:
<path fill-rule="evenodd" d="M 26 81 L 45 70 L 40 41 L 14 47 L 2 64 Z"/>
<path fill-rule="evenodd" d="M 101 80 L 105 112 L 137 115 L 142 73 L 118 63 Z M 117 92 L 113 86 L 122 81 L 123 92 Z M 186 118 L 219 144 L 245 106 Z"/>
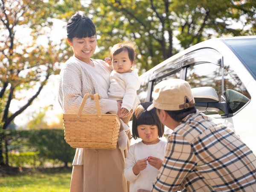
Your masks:
<path fill-rule="evenodd" d="M 91 59 L 94 67 L 72 56 L 61 68 L 58 81 L 58 102 L 64 113 L 78 113 L 86 93 L 99 93 L 102 113 L 117 113 L 117 102 L 108 99 L 111 69 L 102 60 Z M 82 113 L 96 113 L 95 102 L 87 99 Z M 83 164 L 83 148 L 77 148 L 73 165 Z"/>

